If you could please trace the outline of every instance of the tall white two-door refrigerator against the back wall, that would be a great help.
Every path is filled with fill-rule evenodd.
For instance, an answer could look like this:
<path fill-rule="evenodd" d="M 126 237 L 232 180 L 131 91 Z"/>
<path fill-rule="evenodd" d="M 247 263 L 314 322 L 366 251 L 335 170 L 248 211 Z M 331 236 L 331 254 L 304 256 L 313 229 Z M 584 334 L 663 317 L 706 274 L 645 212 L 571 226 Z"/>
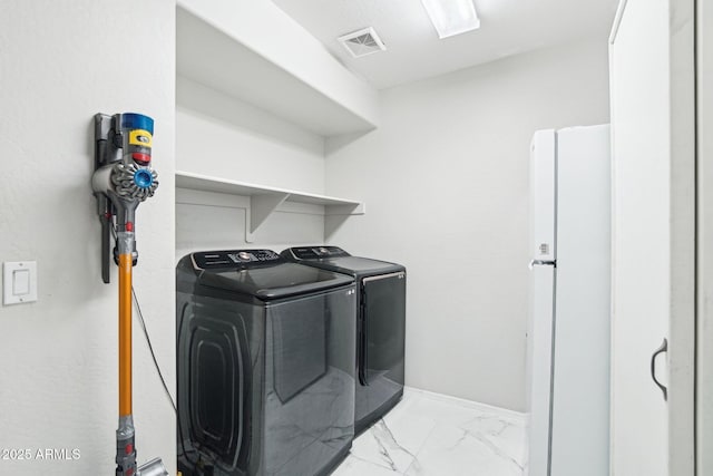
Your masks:
<path fill-rule="evenodd" d="M 609 474 L 609 126 L 535 133 L 529 476 Z"/>

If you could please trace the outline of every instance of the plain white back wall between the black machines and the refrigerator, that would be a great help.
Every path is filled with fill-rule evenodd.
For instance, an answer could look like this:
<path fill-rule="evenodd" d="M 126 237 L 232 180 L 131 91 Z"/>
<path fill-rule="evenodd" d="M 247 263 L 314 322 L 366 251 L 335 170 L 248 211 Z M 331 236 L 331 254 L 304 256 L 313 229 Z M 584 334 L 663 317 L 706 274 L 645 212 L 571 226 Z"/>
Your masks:
<path fill-rule="evenodd" d="M 326 192 L 368 205 L 331 243 L 409 272 L 407 385 L 525 409 L 530 138 L 608 122 L 607 81 L 587 40 L 384 90 L 328 140 Z"/>

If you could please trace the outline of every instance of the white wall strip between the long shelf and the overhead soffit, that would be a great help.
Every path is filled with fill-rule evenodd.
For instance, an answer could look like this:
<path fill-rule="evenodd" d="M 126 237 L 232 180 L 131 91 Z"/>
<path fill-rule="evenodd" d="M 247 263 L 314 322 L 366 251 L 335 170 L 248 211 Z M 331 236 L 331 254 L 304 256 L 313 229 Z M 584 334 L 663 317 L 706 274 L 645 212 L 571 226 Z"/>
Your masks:
<path fill-rule="evenodd" d="M 178 77 L 176 168 L 281 188 L 324 192 L 324 138 Z"/>

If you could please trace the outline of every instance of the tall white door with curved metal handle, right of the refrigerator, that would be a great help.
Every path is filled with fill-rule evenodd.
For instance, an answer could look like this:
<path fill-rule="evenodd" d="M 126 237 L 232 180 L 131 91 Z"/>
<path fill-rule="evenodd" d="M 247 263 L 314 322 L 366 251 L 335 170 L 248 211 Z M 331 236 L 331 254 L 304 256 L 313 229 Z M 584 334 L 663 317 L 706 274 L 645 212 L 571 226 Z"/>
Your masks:
<path fill-rule="evenodd" d="M 622 1 L 612 32 L 615 476 L 693 474 L 692 6 Z"/>

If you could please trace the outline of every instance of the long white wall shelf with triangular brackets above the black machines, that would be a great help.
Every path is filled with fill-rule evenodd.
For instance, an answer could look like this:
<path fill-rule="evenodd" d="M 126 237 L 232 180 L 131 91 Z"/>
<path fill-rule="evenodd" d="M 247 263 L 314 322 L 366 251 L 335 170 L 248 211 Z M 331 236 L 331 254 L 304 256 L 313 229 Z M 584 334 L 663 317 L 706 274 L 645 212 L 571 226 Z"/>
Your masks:
<path fill-rule="evenodd" d="M 245 216 L 247 222 L 246 240 L 248 242 L 252 241 L 253 234 L 260 225 L 284 202 L 322 205 L 324 206 L 324 215 L 341 215 L 344 218 L 349 215 L 363 215 L 365 210 L 363 202 L 354 200 L 248 184 L 191 172 L 176 171 L 176 188 L 250 197 L 250 206 Z"/>

